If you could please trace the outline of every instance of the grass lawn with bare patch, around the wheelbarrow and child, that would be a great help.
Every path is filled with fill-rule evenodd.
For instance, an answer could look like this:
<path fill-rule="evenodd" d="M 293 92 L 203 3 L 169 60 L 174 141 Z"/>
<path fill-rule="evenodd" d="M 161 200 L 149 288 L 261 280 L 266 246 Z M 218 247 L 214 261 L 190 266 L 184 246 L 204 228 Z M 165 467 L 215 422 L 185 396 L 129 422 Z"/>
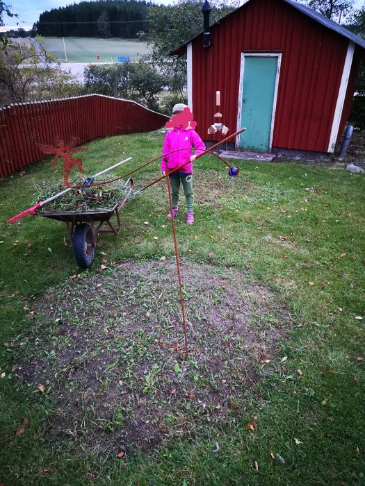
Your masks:
<path fill-rule="evenodd" d="M 95 140 L 83 168 L 132 156 L 120 175 L 162 142 Z M 176 218 L 185 358 L 165 182 L 82 271 L 65 224 L 7 223 L 62 179 L 50 161 L 0 181 L 0 483 L 363 485 L 364 176 L 197 160 L 195 224 L 183 201 Z"/>

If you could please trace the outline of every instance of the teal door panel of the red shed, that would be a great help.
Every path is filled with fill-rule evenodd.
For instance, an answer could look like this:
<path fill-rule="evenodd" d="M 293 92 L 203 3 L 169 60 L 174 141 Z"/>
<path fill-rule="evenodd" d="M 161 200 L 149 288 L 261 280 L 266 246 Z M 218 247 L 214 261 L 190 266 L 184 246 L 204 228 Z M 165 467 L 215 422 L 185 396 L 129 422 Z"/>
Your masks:
<path fill-rule="evenodd" d="M 277 56 L 244 56 L 240 149 L 268 151 L 277 82 Z"/>

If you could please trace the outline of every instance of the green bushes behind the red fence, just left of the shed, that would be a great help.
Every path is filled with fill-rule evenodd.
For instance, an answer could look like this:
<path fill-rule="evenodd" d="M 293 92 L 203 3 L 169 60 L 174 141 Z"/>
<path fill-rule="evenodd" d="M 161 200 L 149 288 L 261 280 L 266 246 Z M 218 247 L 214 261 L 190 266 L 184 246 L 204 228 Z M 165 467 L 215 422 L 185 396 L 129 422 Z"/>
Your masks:
<path fill-rule="evenodd" d="M 158 95 L 165 78 L 146 62 L 92 65 L 84 71 L 87 93 L 105 94 L 138 101 L 152 110 L 159 109 Z"/>

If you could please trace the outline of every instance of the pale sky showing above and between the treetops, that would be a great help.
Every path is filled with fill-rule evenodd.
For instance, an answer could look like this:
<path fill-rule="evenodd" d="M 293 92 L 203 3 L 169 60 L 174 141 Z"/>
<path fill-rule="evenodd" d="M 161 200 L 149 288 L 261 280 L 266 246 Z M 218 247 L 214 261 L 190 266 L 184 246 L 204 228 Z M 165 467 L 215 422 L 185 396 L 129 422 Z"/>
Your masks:
<path fill-rule="evenodd" d="M 45 10 L 51 10 L 51 8 L 65 7 L 72 5 L 73 3 L 79 3 L 81 0 L 6 0 L 5 3 L 10 5 L 10 10 L 13 13 L 17 13 L 19 18 L 18 26 L 29 30 L 33 24 L 38 21 L 39 16 Z M 169 5 L 173 3 L 173 0 L 152 0 L 158 4 Z M 202 0 L 203 3 L 203 0 Z M 240 2 L 244 3 L 243 1 Z M 364 5 L 364 0 L 355 0 L 355 8 L 361 8 Z M 15 26 L 14 17 L 10 19 L 5 17 L 4 22 L 8 28 L 17 28 Z"/>

